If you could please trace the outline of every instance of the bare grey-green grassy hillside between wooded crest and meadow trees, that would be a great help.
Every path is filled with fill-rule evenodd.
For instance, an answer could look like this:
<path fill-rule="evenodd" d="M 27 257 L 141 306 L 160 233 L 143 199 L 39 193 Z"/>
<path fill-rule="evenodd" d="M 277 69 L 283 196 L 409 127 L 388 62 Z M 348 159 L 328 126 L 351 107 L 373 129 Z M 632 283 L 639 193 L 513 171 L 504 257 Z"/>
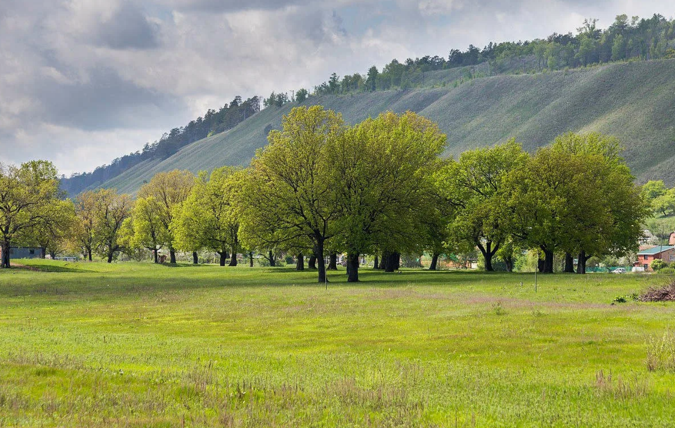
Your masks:
<path fill-rule="evenodd" d="M 446 154 L 516 137 L 533 151 L 568 130 L 597 130 L 619 137 L 639 181 L 675 184 L 675 60 L 629 62 L 540 74 L 475 78 L 456 85 L 461 70 L 425 76 L 434 87 L 310 97 L 358 122 L 379 112 L 412 110 L 448 134 Z M 138 164 L 101 187 L 135 193 L 159 171 L 192 172 L 247 164 L 265 145 L 266 130 L 298 103 L 270 107 L 231 130 L 196 141 L 165 160 Z"/>

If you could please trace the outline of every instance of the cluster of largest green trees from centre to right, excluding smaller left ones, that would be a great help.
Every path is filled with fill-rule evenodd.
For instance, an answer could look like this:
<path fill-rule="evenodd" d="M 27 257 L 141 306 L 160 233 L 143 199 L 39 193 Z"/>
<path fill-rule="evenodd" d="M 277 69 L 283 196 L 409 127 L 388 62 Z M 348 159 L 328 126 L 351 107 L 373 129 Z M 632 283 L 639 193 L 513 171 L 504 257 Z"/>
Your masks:
<path fill-rule="evenodd" d="M 478 247 L 492 270 L 498 253 L 510 269 L 516 252 L 537 249 L 542 272 L 563 252 L 565 270 L 576 256 L 583 273 L 591 256 L 636 249 L 649 203 L 616 139 L 570 133 L 534 156 L 509 141 L 458 161 L 439 158 L 444 142 L 410 112 L 350 127 L 321 107 L 296 108 L 244 171 L 240 233 L 320 260 L 346 252 L 350 281 L 360 254 L 389 268 L 402 252 L 437 260 Z"/>

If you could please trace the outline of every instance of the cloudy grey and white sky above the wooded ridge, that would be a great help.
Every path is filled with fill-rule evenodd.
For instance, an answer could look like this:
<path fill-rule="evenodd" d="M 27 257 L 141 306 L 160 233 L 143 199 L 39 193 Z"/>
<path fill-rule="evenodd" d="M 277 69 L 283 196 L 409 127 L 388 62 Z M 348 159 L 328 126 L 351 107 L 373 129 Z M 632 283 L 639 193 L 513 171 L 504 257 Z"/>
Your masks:
<path fill-rule="evenodd" d="M 235 95 L 624 13 L 675 0 L 2 0 L 0 162 L 84 172 Z"/>

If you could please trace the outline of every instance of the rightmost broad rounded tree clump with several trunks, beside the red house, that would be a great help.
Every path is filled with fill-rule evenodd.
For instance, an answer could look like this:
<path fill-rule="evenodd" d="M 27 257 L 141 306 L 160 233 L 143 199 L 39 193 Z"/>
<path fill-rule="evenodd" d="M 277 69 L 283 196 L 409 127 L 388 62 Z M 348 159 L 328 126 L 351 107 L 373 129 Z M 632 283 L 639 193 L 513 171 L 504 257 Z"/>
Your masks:
<path fill-rule="evenodd" d="M 619 156 L 618 141 L 568 133 L 508 176 L 508 209 L 518 245 L 539 249 L 543 272 L 564 252 L 566 270 L 578 254 L 579 273 L 591 256 L 634 249 L 647 204 Z"/>

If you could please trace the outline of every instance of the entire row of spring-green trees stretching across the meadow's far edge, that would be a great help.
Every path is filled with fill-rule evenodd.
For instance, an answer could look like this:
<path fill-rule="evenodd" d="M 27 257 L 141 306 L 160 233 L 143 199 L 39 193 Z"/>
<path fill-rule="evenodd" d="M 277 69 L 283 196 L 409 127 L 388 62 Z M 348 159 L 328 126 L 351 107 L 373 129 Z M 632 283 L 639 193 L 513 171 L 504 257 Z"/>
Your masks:
<path fill-rule="evenodd" d="M 9 222 L 23 226 L 3 232 L 3 245 L 67 236 L 89 259 L 94 253 L 111 262 L 120 252 L 149 250 L 157 262 L 165 250 L 171 262 L 177 251 L 192 252 L 196 262 L 196 252 L 208 249 L 221 265 L 229 254 L 230 264 L 254 251 L 273 263 L 273 253 L 284 252 L 298 268 L 309 256 L 320 282 L 324 256 L 335 267 L 337 255 L 346 254 L 348 280 L 358 281 L 363 254 L 391 271 L 400 254 L 428 252 L 435 268 L 439 255 L 475 248 L 486 270 L 495 256 L 512 270 L 514 257 L 535 249 L 542 272 L 552 272 L 553 255 L 564 254 L 565 271 L 574 271 L 577 258 L 576 272 L 584 273 L 591 256 L 634 251 L 651 212 L 618 141 L 597 133 L 561 135 L 533 155 L 512 140 L 442 159 L 445 135 L 417 114 L 387 112 L 348 126 L 315 105 L 294 108 L 268 140 L 248 168 L 196 178 L 162 172 L 135 202 L 101 189 L 72 204 L 57 199 L 48 163 L 9 168 L 2 179 L 14 180 L 9 188 L 17 193 L 2 200 L 28 205 L 23 222 Z M 0 211 L 11 218 L 11 208 Z M 3 231 L 9 223 L 0 224 Z M 45 243 L 50 251 L 56 245 Z"/>

